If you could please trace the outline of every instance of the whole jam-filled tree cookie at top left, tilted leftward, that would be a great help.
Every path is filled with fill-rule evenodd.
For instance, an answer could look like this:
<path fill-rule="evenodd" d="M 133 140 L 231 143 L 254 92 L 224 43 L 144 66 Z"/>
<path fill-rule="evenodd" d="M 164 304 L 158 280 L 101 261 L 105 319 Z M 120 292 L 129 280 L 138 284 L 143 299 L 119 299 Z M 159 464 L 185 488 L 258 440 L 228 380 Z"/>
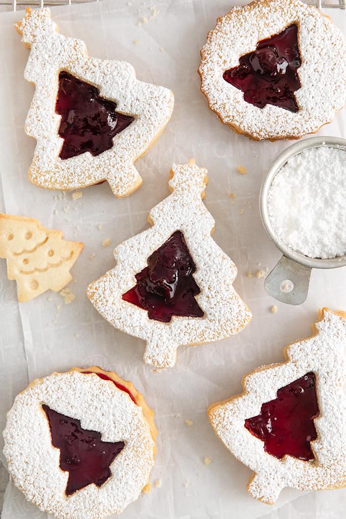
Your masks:
<path fill-rule="evenodd" d="M 173 93 L 136 79 L 127 62 L 90 58 L 84 42 L 59 34 L 47 8 L 27 8 L 16 29 L 31 48 L 24 76 L 35 85 L 29 180 L 51 189 L 107 180 L 116 196 L 130 195 L 142 183 L 133 162 L 167 125 Z"/>

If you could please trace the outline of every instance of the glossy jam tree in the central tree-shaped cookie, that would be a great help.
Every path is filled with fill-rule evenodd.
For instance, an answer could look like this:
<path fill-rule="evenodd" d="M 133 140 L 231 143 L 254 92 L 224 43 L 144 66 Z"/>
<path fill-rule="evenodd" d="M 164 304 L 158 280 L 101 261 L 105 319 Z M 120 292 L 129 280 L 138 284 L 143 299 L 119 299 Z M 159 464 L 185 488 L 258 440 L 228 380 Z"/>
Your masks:
<path fill-rule="evenodd" d="M 170 322 L 172 316 L 203 317 L 195 295 L 196 265 L 184 235 L 177 230 L 148 257 L 148 266 L 136 274 L 137 283 L 122 294 L 124 301 L 148 311 L 149 319 Z"/>

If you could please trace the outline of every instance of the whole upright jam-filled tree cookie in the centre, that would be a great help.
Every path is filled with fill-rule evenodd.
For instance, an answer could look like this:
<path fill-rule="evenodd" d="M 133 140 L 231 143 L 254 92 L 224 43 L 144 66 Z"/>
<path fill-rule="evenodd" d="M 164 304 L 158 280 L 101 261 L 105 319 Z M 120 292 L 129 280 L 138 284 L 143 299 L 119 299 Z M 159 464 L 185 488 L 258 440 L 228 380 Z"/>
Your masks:
<path fill-rule="evenodd" d="M 178 346 L 224 339 L 251 320 L 233 289 L 237 267 L 211 237 L 206 174 L 193 159 L 174 164 L 172 194 L 150 211 L 153 226 L 118 245 L 116 267 L 87 289 L 105 319 L 145 340 L 155 371 L 175 364 Z"/>

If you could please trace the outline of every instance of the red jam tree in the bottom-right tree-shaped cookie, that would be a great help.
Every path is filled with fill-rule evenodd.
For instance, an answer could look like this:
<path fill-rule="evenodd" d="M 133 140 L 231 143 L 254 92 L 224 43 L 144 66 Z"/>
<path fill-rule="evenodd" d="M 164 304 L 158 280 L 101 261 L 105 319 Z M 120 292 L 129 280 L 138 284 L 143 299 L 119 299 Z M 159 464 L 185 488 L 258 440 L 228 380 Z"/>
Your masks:
<path fill-rule="evenodd" d="M 314 459 L 310 442 L 317 438 L 313 420 L 320 413 L 315 386 L 314 373 L 307 373 L 279 389 L 275 400 L 262 404 L 258 416 L 245 420 L 246 429 L 264 442 L 267 453 Z"/>

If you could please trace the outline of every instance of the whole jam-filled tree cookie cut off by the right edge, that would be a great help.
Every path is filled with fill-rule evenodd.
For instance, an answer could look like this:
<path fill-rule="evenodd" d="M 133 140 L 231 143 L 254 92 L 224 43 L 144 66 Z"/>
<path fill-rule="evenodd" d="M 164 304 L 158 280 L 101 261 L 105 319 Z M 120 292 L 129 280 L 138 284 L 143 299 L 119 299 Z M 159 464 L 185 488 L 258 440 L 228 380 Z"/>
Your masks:
<path fill-rule="evenodd" d="M 313 332 L 208 410 L 219 439 L 254 471 L 248 493 L 268 504 L 284 487 L 346 486 L 346 312 L 324 308 Z"/>

